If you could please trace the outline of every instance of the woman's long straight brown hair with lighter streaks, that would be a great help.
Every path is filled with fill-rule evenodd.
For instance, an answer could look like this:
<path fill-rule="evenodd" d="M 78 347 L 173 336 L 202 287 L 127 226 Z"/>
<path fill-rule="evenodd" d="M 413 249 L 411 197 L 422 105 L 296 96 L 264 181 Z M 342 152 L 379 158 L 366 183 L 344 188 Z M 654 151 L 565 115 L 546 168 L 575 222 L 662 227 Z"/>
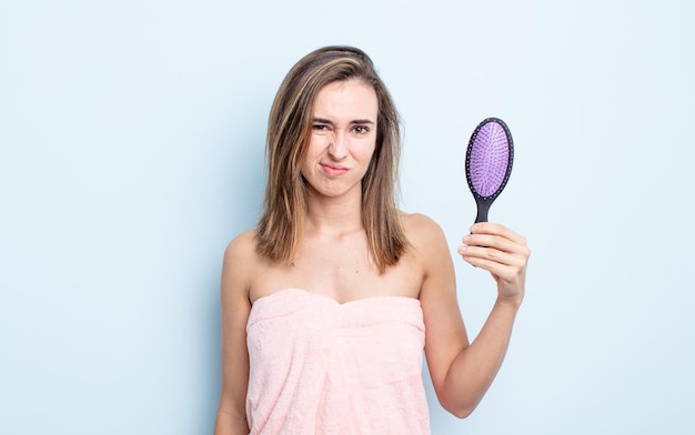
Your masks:
<path fill-rule="evenodd" d="M 362 224 L 380 273 L 396 264 L 407 246 L 395 200 L 401 132 L 393 100 L 366 53 L 352 47 L 325 47 L 290 70 L 270 112 L 268 183 L 256 249 L 273 263 L 292 264 L 301 247 L 308 193 L 300 166 L 316 94 L 326 84 L 353 79 L 372 85 L 379 104 L 376 146 L 362 179 Z"/>

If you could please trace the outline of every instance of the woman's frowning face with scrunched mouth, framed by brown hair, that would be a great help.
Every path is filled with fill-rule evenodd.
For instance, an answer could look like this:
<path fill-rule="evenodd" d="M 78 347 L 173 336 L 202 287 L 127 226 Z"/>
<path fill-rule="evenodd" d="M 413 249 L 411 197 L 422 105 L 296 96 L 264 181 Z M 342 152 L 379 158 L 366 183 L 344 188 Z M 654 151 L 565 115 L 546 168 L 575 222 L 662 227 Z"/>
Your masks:
<path fill-rule="evenodd" d="M 376 146 L 379 103 L 360 80 L 333 82 L 314 100 L 312 133 L 301 172 L 312 193 L 361 195 Z"/>

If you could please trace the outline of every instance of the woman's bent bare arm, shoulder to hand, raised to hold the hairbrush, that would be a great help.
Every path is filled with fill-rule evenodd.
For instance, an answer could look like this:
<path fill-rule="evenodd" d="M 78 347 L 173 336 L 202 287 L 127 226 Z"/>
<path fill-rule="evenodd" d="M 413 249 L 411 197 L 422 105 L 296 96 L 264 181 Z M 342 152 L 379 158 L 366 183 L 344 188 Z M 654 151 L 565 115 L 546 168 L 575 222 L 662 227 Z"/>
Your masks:
<path fill-rule="evenodd" d="M 425 280 L 421 302 L 425 314 L 425 354 L 440 403 L 465 417 L 492 384 L 510 342 L 516 312 L 524 295 L 530 251 L 524 237 L 492 223 L 480 223 L 464 237 L 460 254 L 470 264 L 491 272 L 497 300 L 473 343 L 469 343 L 456 302 L 453 263 L 442 231 L 430 233 L 422 249 Z"/>

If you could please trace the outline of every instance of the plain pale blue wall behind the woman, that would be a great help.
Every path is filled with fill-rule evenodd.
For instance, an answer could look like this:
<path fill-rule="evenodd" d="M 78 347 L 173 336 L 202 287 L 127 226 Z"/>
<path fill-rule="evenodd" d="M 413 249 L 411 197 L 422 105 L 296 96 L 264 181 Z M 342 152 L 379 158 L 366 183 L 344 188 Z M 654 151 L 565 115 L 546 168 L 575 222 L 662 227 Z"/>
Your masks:
<path fill-rule="evenodd" d="M 404 120 L 402 206 L 474 218 L 470 133 L 510 124 L 491 211 L 528 237 L 507 360 L 434 434 L 695 431 L 686 1 L 0 3 L 0 433 L 210 433 L 218 283 L 253 226 L 289 68 L 366 50 Z M 456 261 L 470 333 L 494 300 Z"/>

